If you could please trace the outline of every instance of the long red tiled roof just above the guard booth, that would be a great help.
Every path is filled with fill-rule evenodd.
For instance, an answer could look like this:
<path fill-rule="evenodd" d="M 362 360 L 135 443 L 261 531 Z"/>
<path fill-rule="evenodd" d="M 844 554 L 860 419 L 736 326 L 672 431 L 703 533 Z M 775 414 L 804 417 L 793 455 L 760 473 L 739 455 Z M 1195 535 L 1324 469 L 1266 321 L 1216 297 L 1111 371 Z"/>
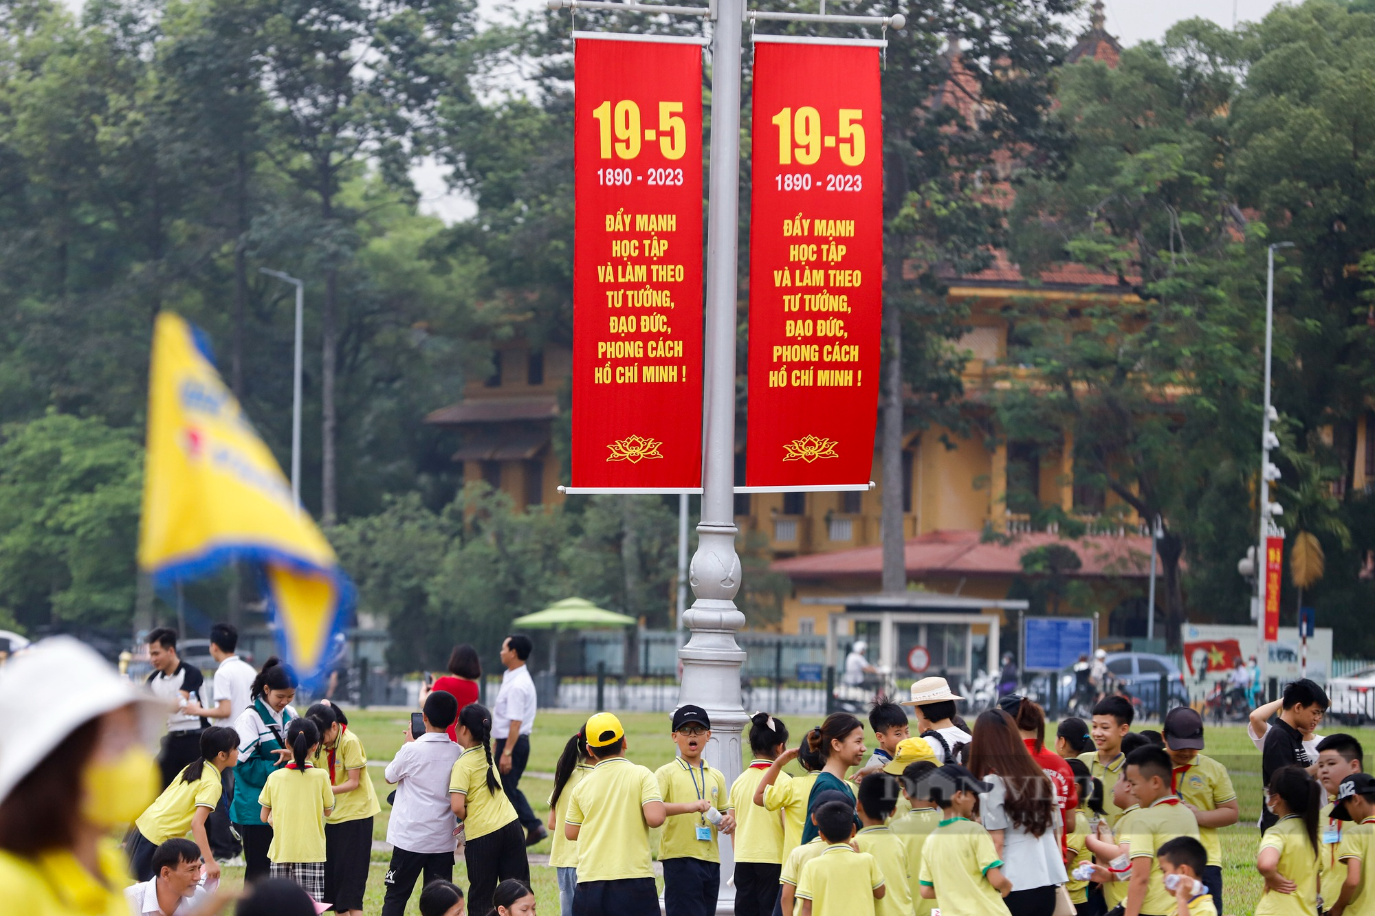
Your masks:
<path fill-rule="evenodd" d="M 1033 547 L 1060 543 L 1079 554 L 1082 568 L 1072 575 L 1145 578 L 1151 565 L 1151 539 L 1145 535 L 1085 535 L 1071 541 L 1053 534 L 1013 535 L 1009 543 L 984 542 L 978 531 L 932 531 L 906 543 L 909 578 L 1022 575 L 1022 554 Z M 883 547 L 855 547 L 832 553 L 776 560 L 770 569 L 793 579 L 874 576 L 883 572 Z"/>

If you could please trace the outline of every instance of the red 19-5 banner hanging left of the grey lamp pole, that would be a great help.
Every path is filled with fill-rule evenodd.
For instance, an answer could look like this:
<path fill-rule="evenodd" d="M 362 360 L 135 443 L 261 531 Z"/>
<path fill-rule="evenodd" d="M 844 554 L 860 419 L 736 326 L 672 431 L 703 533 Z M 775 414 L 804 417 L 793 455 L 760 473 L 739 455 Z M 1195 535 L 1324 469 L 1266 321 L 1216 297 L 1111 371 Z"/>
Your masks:
<path fill-rule="evenodd" d="M 572 486 L 701 486 L 701 47 L 578 39 Z"/>

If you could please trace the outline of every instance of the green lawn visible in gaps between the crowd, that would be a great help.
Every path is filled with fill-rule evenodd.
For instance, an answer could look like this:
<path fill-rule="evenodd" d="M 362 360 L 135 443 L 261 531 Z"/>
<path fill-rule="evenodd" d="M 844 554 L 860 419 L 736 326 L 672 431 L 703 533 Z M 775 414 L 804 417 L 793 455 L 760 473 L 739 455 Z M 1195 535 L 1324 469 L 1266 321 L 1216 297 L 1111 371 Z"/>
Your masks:
<path fill-rule="evenodd" d="M 637 763 L 654 769 L 667 763 L 674 756 L 674 745 L 668 739 L 668 717 L 654 712 L 623 712 L 619 714 L 626 726 L 626 739 L 630 747 L 628 756 Z M 527 776 L 521 780 L 521 788 L 529 799 L 535 811 L 540 817 L 549 813 L 546 799 L 551 783 L 544 776 L 553 773 L 554 762 L 562 751 L 564 743 L 576 732 L 584 714 L 564 711 L 540 711 L 531 743 L 531 758 Z M 403 711 L 363 711 L 349 712 L 349 728 L 363 740 L 370 761 L 389 761 L 402 745 L 408 712 Z M 814 719 L 803 717 L 786 718 L 785 722 L 792 732 L 792 743 L 802 736 L 802 730 L 814 723 Z M 1150 726 L 1150 723 L 1148 723 Z M 1375 729 L 1342 729 L 1331 725 L 1323 729 L 1324 734 L 1348 730 L 1356 734 L 1367 747 L 1375 747 Z M 1246 730 L 1240 726 L 1213 726 L 1207 728 L 1209 747 L 1204 751 L 1210 756 L 1222 762 L 1232 774 L 1242 806 L 1242 820 L 1238 825 L 1222 831 L 1224 864 L 1224 904 L 1228 916 L 1250 916 L 1260 898 L 1262 882 L 1255 871 L 1255 849 L 1260 833 L 1255 821 L 1261 810 L 1261 755 L 1246 737 Z M 872 736 L 870 736 L 872 744 Z M 795 769 L 793 763 L 789 769 Z M 390 787 L 382 777 L 382 767 L 368 767 L 368 774 L 377 788 L 378 799 L 385 799 Z M 374 828 L 375 839 L 386 839 L 386 818 L 390 807 L 382 800 L 382 813 L 377 817 Z M 531 849 L 532 853 L 549 853 L 549 840 Z M 386 872 L 386 855 L 374 853 L 373 868 L 367 883 L 367 912 L 378 913 L 382 906 L 382 876 Z M 534 866 L 532 877 L 535 894 L 540 912 L 550 915 L 558 912 L 558 890 L 554 883 L 553 869 Z M 227 869 L 226 879 L 234 884 L 242 879 L 242 869 Z M 454 868 L 454 880 L 461 886 L 468 886 L 463 864 Z M 415 894 L 407 913 L 418 913 Z M 474 908 L 473 912 L 483 913 L 484 909 Z"/>

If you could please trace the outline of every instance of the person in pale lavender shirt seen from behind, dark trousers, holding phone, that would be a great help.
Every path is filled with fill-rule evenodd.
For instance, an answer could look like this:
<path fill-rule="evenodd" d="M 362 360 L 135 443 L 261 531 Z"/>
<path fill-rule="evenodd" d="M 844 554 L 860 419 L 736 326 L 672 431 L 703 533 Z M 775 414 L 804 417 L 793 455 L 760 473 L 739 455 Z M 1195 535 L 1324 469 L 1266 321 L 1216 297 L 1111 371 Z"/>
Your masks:
<path fill-rule="evenodd" d="M 406 729 L 406 744 L 386 765 L 386 781 L 396 785 L 386 842 L 392 864 L 386 868 L 386 898 L 382 916 L 402 916 L 415 890 L 415 879 L 454 880 L 454 810 L 448 802 L 448 780 L 463 751 L 450 740 L 448 726 L 458 718 L 452 693 L 434 690 L 425 697 L 425 734 Z M 364 778 L 367 778 L 364 776 Z"/>

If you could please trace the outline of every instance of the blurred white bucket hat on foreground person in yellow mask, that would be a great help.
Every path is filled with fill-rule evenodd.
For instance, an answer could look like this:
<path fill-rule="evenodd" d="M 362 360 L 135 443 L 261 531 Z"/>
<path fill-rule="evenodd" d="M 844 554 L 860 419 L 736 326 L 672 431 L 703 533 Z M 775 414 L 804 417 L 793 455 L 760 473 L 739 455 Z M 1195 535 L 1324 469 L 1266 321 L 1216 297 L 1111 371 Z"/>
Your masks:
<path fill-rule="evenodd" d="M 143 707 L 144 719 L 169 712 L 72 637 L 14 656 L 0 668 L 0 802 L 77 726 L 129 703 Z"/>

